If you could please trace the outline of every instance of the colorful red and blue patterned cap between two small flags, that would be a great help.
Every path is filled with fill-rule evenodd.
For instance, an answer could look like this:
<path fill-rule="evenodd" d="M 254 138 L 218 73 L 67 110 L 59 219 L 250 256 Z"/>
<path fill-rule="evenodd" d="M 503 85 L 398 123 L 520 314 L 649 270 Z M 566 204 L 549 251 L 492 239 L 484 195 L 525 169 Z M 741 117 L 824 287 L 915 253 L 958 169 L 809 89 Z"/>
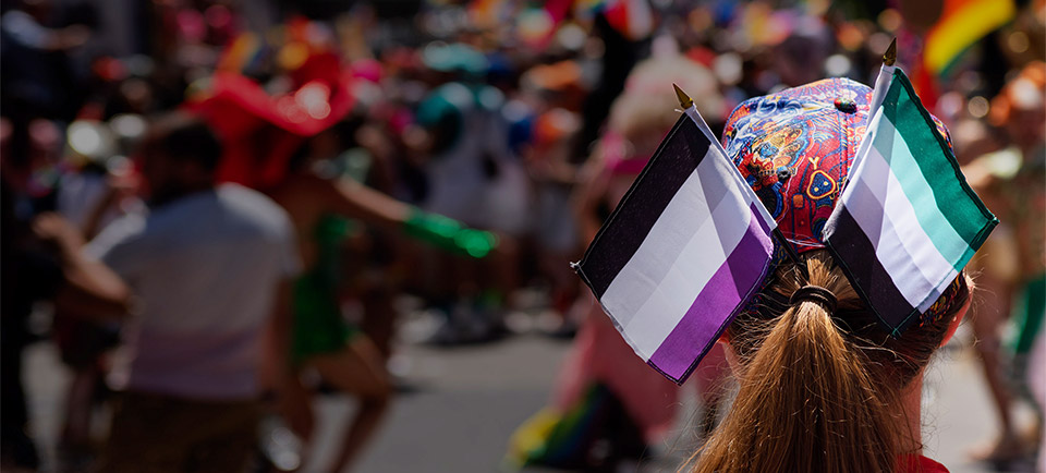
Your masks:
<path fill-rule="evenodd" d="M 822 230 L 864 136 L 872 88 L 826 78 L 742 102 L 723 129 L 723 147 L 798 253 L 825 247 Z M 937 130 L 951 146 L 939 120 Z M 774 264 L 784 258 L 775 251 Z M 964 278 L 941 296 L 965 290 Z M 949 308 L 950 304 L 934 307 Z M 945 313 L 934 307 L 923 320 Z"/>

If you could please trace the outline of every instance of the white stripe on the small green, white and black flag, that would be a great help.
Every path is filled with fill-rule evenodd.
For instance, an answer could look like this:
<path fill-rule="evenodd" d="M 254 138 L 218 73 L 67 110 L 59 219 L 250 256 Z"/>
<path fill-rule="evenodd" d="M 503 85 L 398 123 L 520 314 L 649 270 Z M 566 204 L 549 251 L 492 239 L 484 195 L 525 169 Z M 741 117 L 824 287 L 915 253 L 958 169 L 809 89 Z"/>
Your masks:
<path fill-rule="evenodd" d="M 958 272 L 920 227 L 915 208 L 878 149 L 872 147 L 860 166 L 864 167 L 858 171 L 862 178 L 850 183 L 853 189 L 844 193 L 842 204 L 875 246 L 876 258 L 893 286 L 909 304 L 924 311 L 940 295 L 941 282 L 947 286 Z M 871 189 L 868 183 L 886 189 Z M 927 293 L 936 294 L 929 303 L 920 300 L 920 294 Z"/>

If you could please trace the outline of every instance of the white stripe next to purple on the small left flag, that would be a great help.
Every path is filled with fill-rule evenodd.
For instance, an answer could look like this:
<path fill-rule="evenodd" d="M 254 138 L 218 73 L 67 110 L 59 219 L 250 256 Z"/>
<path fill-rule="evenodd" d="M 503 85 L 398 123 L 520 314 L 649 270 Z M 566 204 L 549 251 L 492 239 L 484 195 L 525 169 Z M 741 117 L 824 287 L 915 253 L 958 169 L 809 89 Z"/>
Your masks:
<path fill-rule="evenodd" d="M 730 194 L 732 195 L 727 195 L 711 210 L 710 218 L 706 214 L 703 225 L 686 242 L 665 278 L 653 288 L 650 296 L 635 311 L 631 323 L 619 325 L 624 328 L 627 339 L 644 361 L 650 359 L 672 329 L 679 325 L 679 320 L 694 304 L 694 299 L 716 271 L 726 264 L 727 257 L 747 231 L 752 211 L 733 189 Z M 708 211 L 707 208 L 703 210 Z M 696 209 L 691 211 L 694 214 Z M 661 241 L 659 235 L 650 232 L 641 245 L 641 251 L 657 252 Z M 643 246 L 647 248 L 644 251 Z M 633 258 L 632 260 L 641 262 L 642 259 Z M 615 282 L 618 282 L 618 279 L 615 279 Z M 621 282 L 629 283 L 627 280 Z M 652 282 L 654 281 L 646 281 L 647 284 Z M 610 293 L 608 289 L 604 294 L 604 301 Z"/>

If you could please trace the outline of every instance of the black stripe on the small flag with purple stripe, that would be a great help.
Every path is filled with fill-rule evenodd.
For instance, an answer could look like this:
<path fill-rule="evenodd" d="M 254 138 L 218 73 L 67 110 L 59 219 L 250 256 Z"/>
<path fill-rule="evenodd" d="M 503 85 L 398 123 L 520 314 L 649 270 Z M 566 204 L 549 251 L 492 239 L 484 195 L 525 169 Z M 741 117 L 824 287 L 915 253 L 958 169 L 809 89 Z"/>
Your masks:
<path fill-rule="evenodd" d="M 603 299 L 665 207 L 697 169 L 709 145 L 693 120 L 685 114 L 679 118 L 581 260 L 581 276 L 596 298 Z"/>

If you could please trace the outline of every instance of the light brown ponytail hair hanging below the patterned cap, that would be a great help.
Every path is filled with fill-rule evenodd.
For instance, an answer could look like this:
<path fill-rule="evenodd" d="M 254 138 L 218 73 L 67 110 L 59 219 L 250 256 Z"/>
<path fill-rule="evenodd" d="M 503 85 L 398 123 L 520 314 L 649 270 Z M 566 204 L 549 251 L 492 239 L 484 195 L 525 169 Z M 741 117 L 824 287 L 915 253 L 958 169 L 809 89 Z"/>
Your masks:
<path fill-rule="evenodd" d="M 899 351 L 826 252 L 805 259 L 805 271 L 782 268 L 768 291 L 784 301 L 807 286 L 829 294 L 733 322 L 728 335 L 739 357 L 740 389 L 722 424 L 691 459 L 694 472 L 896 471 L 908 435 L 898 430 L 905 423 L 892 419 L 904 415 L 900 392 L 936 345 Z M 847 313 L 844 329 L 830 310 Z M 941 337 L 945 328 L 947 323 L 926 327 Z M 933 335 L 914 338 L 940 342 Z"/>

